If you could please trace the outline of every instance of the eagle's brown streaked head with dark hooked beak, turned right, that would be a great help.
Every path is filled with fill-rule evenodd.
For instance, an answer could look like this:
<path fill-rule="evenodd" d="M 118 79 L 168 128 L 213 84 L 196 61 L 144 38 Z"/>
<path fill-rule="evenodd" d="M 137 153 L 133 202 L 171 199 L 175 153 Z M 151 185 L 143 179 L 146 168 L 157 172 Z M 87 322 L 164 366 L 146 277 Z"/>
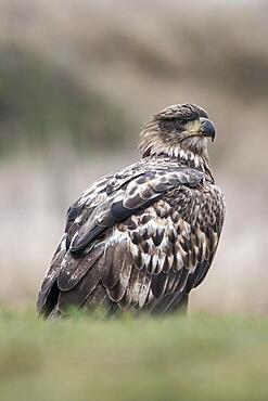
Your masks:
<path fill-rule="evenodd" d="M 215 138 L 214 124 L 195 104 L 175 104 L 154 114 L 143 126 L 139 150 L 143 157 L 178 156 L 180 151 L 207 158 L 207 138 Z"/>

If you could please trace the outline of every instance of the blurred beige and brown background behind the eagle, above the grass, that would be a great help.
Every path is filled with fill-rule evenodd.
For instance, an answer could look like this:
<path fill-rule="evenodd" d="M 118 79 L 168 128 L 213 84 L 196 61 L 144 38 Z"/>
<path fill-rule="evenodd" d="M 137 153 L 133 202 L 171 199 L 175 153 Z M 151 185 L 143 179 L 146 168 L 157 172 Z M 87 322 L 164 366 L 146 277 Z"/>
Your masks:
<path fill-rule="evenodd" d="M 197 103 L 227 202 L 192 311 L 268 312 L 268 2 L 0 0 L 0 303 L 34 305 L 69 204 Z"/>

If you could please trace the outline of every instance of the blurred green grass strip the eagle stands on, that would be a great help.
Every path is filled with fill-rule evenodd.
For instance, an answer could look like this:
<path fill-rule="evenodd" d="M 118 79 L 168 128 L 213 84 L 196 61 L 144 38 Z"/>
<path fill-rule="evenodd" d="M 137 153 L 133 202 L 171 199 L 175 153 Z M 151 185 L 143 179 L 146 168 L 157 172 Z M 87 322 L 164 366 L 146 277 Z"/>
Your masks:
<path fill-rule="evenodd" d="M 268 399 L 268 321 L 0 312 L 0 400 Z"/>

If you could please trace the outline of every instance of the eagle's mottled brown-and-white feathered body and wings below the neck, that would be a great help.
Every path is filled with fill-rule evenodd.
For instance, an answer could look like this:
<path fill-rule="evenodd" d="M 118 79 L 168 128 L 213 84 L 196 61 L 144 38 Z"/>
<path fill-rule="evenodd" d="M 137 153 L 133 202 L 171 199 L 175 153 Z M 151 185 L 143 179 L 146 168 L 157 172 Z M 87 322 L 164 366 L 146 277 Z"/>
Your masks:
<path fill-rule="evenodd" d="M 97 192 L 94 184 L 69 210 L 39 311 L 98 302 L 100 290 L 122 308 L 162 312 L 178 303 L 175 295 L 204 279 L 221 230 L 220 195 L 204 181 L 201 171 L 162 166 L 110 177 Z"/>

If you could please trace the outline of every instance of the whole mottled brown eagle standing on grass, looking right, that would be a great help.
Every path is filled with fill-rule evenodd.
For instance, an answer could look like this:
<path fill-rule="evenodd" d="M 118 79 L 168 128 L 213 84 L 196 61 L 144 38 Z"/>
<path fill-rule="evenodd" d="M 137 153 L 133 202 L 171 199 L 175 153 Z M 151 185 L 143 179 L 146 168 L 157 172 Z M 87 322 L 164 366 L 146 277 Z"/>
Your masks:
<path fill-rule="evenodd" d="M 202 107 L 175 104 L 140 133 L 141 158 L 92 183 L 68 209 L 37 311 L 72 308 L 163 315 L 187 311 L 205 279 L 225 218 L 208 161 L 215 126 Z"/>

